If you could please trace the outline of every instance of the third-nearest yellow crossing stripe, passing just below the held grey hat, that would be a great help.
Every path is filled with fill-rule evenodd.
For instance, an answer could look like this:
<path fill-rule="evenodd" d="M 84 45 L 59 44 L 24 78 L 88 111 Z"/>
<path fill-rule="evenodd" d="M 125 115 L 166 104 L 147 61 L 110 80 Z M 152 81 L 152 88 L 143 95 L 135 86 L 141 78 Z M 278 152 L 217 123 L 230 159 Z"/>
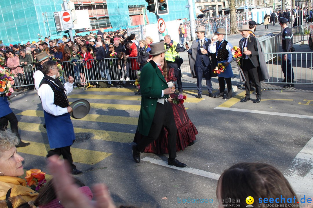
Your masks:
<path fill-rule="evenodd" d="M 26 110 L 17 115 L 23 116 L 37 116 L 44 117 L 44 111 L 42 110 Z M 73 118 L 71 118 L 73 119 Z M 82 119 L 73 119 L 73 120 L 82 120 L 82 121 L 96 121 L 104 123 L 119 123 L 119 124 L 128 124 L 128 125 L 137 125 L 137 117 L 126 117 L 126 116 L 109 116 L 109 115 L 96 115 L 96 114 L 87 114 Z"/>

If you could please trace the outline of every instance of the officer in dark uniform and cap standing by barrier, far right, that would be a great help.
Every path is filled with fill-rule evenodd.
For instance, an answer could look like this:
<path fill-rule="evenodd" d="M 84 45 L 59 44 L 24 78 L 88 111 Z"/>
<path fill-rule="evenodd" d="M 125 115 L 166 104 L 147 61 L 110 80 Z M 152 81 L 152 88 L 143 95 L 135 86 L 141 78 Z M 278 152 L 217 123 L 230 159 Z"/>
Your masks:
<path fill-rule="evenodd" d="M 291 52 L 291 48 L 293 48 L 293 34 L 290 27 L 287 26 L 287 22 L 288 20 L 286 18 L 279 18 L 279 24 L 283 28 L 283 33 L 281 36 L 281 46 L 283 48 L 283 52 Z M 294 82 L 295 75 L 291 66 L 291 54 L 283 55 L 282 70 L 285 78 L 282 82 Z M 285 88 L 294 86 L 294 84 L 284 85 Z"/>

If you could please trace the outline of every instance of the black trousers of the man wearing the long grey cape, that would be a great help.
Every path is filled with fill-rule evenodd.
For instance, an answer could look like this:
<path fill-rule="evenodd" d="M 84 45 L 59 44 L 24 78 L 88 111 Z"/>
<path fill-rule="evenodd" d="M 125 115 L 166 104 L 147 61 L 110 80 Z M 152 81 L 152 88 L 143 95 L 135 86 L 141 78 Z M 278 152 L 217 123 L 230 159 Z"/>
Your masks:
<path fill-rule="evenodd" d="M 246 97 L 250 97 L 250 83 L 249 83 L 249 76 L 252 79 L 252 82 L 254 83 L 255 86 L 255 92 L 256 92 L 256 98 L 261 99 L 262 95 L 262 90 L 261 90 L 261 84 L 259 81 L 259 75 L 258 75 L 258 67 L 254 67 L 249 70 L 244 70 L 244 78 L 246 79 L 244 85 L 246 87 Z"/>

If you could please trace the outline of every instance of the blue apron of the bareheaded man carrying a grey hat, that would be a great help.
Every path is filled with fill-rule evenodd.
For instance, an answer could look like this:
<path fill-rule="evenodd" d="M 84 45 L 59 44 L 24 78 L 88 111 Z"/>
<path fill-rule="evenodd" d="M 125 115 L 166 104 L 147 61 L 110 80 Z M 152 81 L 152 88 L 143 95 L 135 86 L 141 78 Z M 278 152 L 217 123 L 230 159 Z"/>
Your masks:
<path fill-rule="evenodd" d="M 75 140 L 74 127 L 71 116 L 66 113 L 55 116 L 44 111 L 50 148 L 71 146 Z"/>

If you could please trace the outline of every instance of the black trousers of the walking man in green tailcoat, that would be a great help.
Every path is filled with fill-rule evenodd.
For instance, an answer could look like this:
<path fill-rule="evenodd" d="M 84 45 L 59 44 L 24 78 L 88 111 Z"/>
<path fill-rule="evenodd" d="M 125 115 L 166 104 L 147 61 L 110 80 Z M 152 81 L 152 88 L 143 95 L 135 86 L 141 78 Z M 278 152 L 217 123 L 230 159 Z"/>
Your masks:
<path fill-rule="evenodd" d="M 164 101 L 164 104 L 157 103 L 156 111 L 153 117 L 152 125 L 148 136 L 143 136 L 141 141 L 137 144 L 137 148 L 140 152 L 144 150 L 151 142 L 156 140 L 163 126 L 167 129 L 167 149 L 168 157 L 174 159 L 176 157 L 176 135 L 177 128 L 174 120 L 174 114 L 171 104 Z"/>

